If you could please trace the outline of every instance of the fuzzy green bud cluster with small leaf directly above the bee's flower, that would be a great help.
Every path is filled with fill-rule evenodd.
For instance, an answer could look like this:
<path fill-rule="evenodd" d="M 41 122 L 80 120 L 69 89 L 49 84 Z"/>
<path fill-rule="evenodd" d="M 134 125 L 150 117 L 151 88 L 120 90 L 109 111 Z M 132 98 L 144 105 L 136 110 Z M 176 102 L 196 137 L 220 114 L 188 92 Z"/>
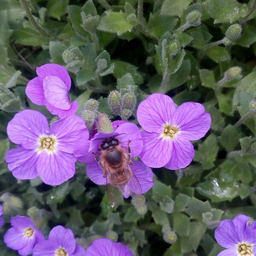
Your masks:
<path fill-rule="evenodd" d="M 121 116 L 123 120 L 128 120 L 136 108 L 137 96 L 131 74 L 126 74 L 117 80 L 117 90 L 113 90 L 108 95 L 108 105 L 115 116 Z"/>

